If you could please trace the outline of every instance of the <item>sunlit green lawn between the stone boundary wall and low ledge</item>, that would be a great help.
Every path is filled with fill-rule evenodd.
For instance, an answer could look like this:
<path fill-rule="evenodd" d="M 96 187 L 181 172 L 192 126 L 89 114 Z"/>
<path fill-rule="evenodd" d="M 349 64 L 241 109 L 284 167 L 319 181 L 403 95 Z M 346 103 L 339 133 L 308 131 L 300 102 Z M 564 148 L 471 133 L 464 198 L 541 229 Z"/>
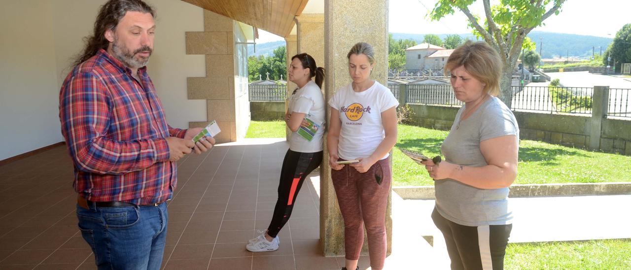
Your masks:
<path fill-rule="evenodd" d="M 252 121 L 247 138 L 284 138 L 284 125 L 281 121 Z M 256 135 L 252 131 L 256 131 Z M 421 151 L 430 157 L 439 155 L 448 132 L 408 125 L 399 125 L 398 132 L 393 150 L 394 185 L 433 185 L 425 168 L 403 155 L 397 147 Z M 524 139 L 519 143 L 519 172 L 515 184 L 631 182 L 629 164 L 631 156 Z"/>

